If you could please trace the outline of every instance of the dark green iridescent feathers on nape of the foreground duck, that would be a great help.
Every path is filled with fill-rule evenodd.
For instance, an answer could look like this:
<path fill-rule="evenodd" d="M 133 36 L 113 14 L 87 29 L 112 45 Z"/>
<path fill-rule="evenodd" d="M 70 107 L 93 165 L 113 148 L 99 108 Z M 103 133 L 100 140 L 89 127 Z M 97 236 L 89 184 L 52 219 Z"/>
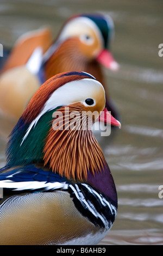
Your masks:
<path fill-rule="evenodd" d="M 37 121 L 36 126 L 32 127 L 26 139 L 29 124 L 21 118 L 10 135 L 7 149 L 7 165 L 17 166 L 21 164 L 42 162 L 43 148 L 46 143 L 48 131 L 52 125 L 52 114 L 58 108 L 48 111 Z M 22 144 L 21 144 L 22 143 Z"/>

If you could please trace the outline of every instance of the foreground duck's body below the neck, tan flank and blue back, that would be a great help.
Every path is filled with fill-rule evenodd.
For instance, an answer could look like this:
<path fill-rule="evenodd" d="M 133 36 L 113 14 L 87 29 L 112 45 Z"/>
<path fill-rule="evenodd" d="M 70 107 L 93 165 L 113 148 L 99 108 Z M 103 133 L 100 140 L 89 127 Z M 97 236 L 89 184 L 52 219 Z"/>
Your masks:
<path fill-rule="evenodd" d="M 95 245 L 114 223 L 116 201 L 89 183 L 35 165 L 4 172 L 1 245 Z"/>

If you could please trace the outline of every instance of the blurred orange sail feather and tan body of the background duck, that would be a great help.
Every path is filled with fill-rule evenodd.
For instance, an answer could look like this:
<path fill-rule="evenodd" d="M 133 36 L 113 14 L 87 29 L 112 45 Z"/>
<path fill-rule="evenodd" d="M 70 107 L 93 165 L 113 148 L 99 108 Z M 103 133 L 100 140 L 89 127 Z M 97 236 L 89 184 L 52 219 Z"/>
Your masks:
<path fill-rule="evenodd" d="M 11 51 L 0 76 L 0 110 L 18 120 L 41 82 L 42 54 L 52 43 L 48 28 L 22 35 Z"/>

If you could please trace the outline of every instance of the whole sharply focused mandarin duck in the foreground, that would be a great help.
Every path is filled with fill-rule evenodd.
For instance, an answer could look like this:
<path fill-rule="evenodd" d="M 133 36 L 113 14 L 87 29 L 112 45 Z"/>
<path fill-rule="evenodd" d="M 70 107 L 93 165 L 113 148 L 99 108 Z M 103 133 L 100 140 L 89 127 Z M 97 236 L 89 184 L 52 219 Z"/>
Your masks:
<path fill-rule="evenodd" d="M 120 126 L 95 77 L 64 72 L 37 90 L 0 171 L 1 245 L 95 245 L 108 233 L 117 193 L 91 130 L 96 120 Z"/>

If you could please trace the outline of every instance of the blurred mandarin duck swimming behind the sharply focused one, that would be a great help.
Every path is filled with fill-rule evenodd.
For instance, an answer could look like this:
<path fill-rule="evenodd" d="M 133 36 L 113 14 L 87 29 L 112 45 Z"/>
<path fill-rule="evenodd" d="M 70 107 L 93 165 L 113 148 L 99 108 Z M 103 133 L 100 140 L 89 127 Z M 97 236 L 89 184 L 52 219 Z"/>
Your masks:
<path fill-rule="evenodd" d="M 19 118 L 43 82 L 60 72 L 85 71 L 101 82 L 106 91 L 106 107 L 116 118 L 102 66 L 117 70 L 110 52 L 114 23 L 103 14 L 72 16 L 53 42 L 47 28 L 27 33 L 16 42 L 0 78 L 0 108 Z"/>

